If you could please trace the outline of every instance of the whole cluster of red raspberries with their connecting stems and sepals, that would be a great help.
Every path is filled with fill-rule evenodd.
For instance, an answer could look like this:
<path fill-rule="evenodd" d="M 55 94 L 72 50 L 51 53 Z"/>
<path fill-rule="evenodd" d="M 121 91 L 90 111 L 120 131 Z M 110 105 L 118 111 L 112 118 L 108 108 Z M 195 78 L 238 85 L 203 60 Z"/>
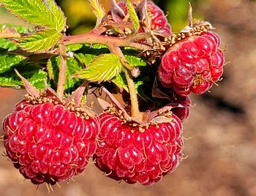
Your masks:
<path fill-rule="evenodd" d="M 104 110 L 98 116 L 92 108 L 82 104 L 81 98 L 92 79 L 67 97 L 64 90 L 62 93 L 59 90 L 64 88 L 62 80 L 58 83 L 58 94 L 51 88 L 39 92 L 18 74 L 29 95 L 4 118 L 4 147 L 15 167 L 34 184 L 67 181 L 85 170 L 90 157 L 99 170 L 117 181 L 143 185 L 160 181 L 181 163 L 182 123 L 189 116 L 189 94 L 203 94 L 222 76 L 224 54 L 219 49 L 219 36 L 211 31 L 211 24 L 193 23 L 180 34 L 174 34 L 164 12 L 151 1 L 141 1 L 133 4 L 140 22 L 140 29 L 136 31 L 133 27 L 128 28 L 132 18 L 127 17 L 127 3 L 111 2 L 110 12 L 105 18 L 98 18 L 98 22 L 102 20 L 97 24 L 99 29 L 89 35 L 94 39 L 103 37 L 105 45 L 110 43 L 110 51 L 120 57 L 124 65 L 120 72 L 124 71 L 124 83 L 128 83 L 129 88 L 129 100 L 123 99 L 124 107 L 109 91 L 105 93 L 113 105 L 105 103 L 105 107 L 102 104 Z M 118 23 L 116 28 L 113 21 Z M 131 39 L 132 45 L 129 45 L 130 39 L 126 38 L 135 34 L 140 34 L 140 39 Z M 90 40 L 90 37 L 74 37 L 79 43 L 81 39 Z M 62 39 L 61 46 L 64 47 L 62 43 L 70 39 Z M 116 42 L 120 40 L 122 44 L 118 47 Z M 94 43 L 98 42 L 94 40 Z M 138 67 L 125 66 L 129 63 L 122 53 L 124 46 L 150 47 L 146 53 L 156 59 L 152 64 L 148 61 L 148 67 L 156 69 L 153 69 L 155 75 L 149 82 L 150 103 L 145 104 L 143 112 L 132 78 L 132 70 L 138 70 Z M 64 65 L 65 68 L 67 56 L 64 49 L 59 47 L 61 67 Z M 143 57 L 148 58 L 148 55 Z M 65 80 L 65 72 L 61 72 L 61 68 L 59 72 L 59 78 Z M 105 72 L 104 69 L 102 75 Z M 104 85 L 102 88 L 106 89 Z M 124 89 L 122 92 L 124 95 Z"/>

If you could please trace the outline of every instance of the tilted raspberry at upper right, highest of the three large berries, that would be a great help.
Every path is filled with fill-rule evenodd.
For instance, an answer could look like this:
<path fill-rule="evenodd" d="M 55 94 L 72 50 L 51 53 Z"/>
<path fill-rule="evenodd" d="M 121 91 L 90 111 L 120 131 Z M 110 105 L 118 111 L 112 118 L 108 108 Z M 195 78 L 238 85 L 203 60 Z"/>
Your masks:
<path fill-rule="evenodd" d="M 158 69 L 162 86 L 186 96 L 203 94 L 223 73 L 224 55 L 219 36 L 212 31 L 192 35 L 173 44 Z"/>

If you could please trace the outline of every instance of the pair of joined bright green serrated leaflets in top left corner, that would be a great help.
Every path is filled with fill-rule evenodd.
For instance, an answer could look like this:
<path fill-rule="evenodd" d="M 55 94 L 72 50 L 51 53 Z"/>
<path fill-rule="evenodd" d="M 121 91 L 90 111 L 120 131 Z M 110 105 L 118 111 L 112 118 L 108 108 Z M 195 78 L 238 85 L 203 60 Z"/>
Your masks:
<path fill-rule="evenodd" d="M 18 46 L 23 50 L 44 52 L 55 46 L 61 39 L 61 32 L 66 28 L 66 18 L 54 0 L 0 0 L 0 3 L 19 18 L 45 27 L 19 40 Z M 13 46 L 9 47 L 13 48 Z"/>

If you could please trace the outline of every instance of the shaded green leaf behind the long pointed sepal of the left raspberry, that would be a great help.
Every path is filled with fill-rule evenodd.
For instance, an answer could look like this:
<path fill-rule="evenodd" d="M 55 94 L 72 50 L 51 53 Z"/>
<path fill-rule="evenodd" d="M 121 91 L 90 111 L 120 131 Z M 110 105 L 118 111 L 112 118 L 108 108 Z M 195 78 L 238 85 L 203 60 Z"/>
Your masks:
<path fill-rule="evenodd" d="M 23 75 L 24 78 L 29 80 L 29 82 L 37 89 L 45 88 L 47 72 L 42 71 L 41 67 L 26 64 L 26 67 L 18 67 L 18 72 L 20 72 L 20 75 Z M 10 70 L 9 72 L 0 74 L 0 86 L 22 88 L 23 82 L 18 78 L 18 75 L 16 75 L 14 70 Z"/>

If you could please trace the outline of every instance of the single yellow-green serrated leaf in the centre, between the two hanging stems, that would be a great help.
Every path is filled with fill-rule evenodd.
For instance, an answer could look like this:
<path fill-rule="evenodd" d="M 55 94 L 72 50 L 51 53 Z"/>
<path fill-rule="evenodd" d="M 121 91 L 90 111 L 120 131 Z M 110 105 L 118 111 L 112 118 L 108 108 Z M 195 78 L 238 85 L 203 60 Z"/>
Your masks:
<path fill-rule="evenodd" d="M 78 78 L 103 82 L 111 80 L 121 72 L 122 64 L 118 56 L 113 53 L 102 54 L 94 59 L 87 69 L 75 74 Z"/>

